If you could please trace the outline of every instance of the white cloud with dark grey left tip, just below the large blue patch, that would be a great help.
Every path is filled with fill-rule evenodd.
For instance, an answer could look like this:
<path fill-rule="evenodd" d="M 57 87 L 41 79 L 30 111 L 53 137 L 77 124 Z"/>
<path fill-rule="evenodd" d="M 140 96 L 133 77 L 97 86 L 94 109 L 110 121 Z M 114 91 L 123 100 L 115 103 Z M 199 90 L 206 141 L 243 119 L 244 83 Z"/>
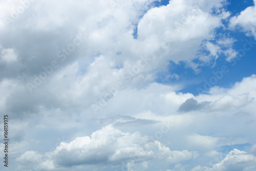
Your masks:
<path fill-rule="evenodd" d="M 231 88 L 212 87 L 209 90 L 209 95 L 201 94 L 187 99 L 180 105 L 178 111 L 214 112 L 241 109 L 247 105 L 253 104 L 256 97 L 255 81 L 255 75 L 252 75 L 244 78 L 241 82 L 235 83 Z"/>

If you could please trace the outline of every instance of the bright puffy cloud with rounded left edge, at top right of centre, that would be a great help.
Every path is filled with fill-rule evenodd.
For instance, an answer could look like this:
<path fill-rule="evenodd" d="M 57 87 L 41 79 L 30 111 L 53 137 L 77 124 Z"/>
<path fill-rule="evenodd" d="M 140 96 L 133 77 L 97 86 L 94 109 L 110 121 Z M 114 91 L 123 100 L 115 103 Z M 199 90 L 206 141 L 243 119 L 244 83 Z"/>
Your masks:
<path fill-rule="evenodd" d="M 224 4 L 223 1 L 170 1 L 167 6 L 148 10 L 138 23 L 138 40 L 161 42 L 164 51 L 159 51 L 157 56 L 163 60 L 156 61 L 158 66 L 173 60 L 187 61 L 192 67 L 193 59 L 204 63 L 212 60 L 212 56 L 215 59 L 216 53 L 212 53 L 216 47 L 221 47 L 210 46 L 209 41 L 215 38 L 214 30 L 223 26 L 222 19 L 229 16 L 225 10 L 217 10 Z M 211 15 L 212 9 L 218 11 L 217 15 Z M 209 51 L 211 56 L 200 54 L 202 49 Z"/>

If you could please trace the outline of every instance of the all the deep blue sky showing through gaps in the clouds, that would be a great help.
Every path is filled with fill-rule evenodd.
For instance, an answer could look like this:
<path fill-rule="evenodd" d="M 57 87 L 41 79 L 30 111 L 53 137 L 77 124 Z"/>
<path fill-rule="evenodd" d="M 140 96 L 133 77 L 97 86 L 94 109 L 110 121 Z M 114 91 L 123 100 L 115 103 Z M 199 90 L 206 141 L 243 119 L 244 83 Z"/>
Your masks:
<path fill-rule="evenodd" d="M 168 1 L 162 1 L 161 5 L 167 5 Z M 236 1 L 229 1 L 229 4 L 225 7 L 228 11 L 230 11 L 232 16 L 238 15 L 241 11 L 243 11 L 245 8 L 253 6 L 253 1 L 244 1 L 244 2 L 236 2 Z M 223 21 L 223 24 L 225 27 L 228 27 L 228 22 Z M 224 29 L 216 29 L 216 34 L 226 34 L 230 35 L 230 37 L 236 39 L 237 41 L 234 42 L 233 48 L 237 51 L 240 49 L 243 49 L 243 46 L 245 43 L 247 43 L 245 40 L 250 41 L 250 39 L 253 40 L 253 36 L 246 36 L 244 33 L 239 32 L 238 30 L 230 31 L 230 30 L 224 30 Z M 255 45 L 254 45 L 255 46 Z M 212 86 L 220 86 L 220 87 L 231 87 L 234 83 L 240 82 L 244 77 L 251 76 L 252 74 L 255 74 L 255 66 L 256 66 L 256 58 L 254 58 L 256 54 L 256 48 L 252 47 L 249 51 L 246 51 L 246 54 L 243 56 L 243 58 L 237 62 L 230 61 L 227 62 L 223 58 L 225 58 L 225 55 L 222 54 L 217 59 L 215 65 L 209 65 L 209 66 L 202 66 L 200 67 L 200 72 L 195 73 L 193 69 L 186 67 L 184 62 L 181 62 L 179 64 L 175 64 L 174 62 L 170 61 L 170 64 L 168 66 L 167 71 L 160 72 L 157 76 L 157 82 L 163 83 L 163 84 L 172 84 L 177 82 L 184 82 L 188 81 L 190 84 L 187 84 L 185 87 L 183 87 L 180 92 L 183 93 L 193 93 L 194 95 L 198 95 L 201 93 L 201 91 L 197 91 L 197 88 L 203 88 L 205 82 L 203 81 L 206 79 L 209 81 L 209 79 L 214 76 L 212 74 L 212 71 L 218 71 L 220 70 L 221 66 L 226 65 L 229 69 L 228 73 L 223 76 L 222 79 L 218 80 L 218 82 Z M 166 75 L 169 73 L 175 72 L 178 75 L 182 75 L 179 80 L 175 78 L 169 78 L 164 79 Z"/>

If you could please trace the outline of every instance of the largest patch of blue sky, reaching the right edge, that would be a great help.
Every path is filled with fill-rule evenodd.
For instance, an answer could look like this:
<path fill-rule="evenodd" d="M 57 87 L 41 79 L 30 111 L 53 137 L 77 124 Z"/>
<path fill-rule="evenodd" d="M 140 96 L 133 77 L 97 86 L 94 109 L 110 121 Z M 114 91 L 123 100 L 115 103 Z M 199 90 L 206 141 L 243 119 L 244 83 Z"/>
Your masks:
<path fill-rule="evenodd" d="M 252 37 L 249 38 L 243 36 L 243 38 L 248 41 L 250 41 L 250 39 L 253 40 Z M 237 51 L 240 49 L 243 50 L 243 45 L 246 43 L 245 40 L 235 42 L 234 48 Z M 201 71 L 198 74 L 193 69 L 187 67 L 185 62 L 175 64 L 174 62 L 170 61 L 168 71 L 160 71 L 156 81 L 162 84 L 181 83 L 182 85 L 186 86 L 180 90 L 180 92 L 190 92 L 194 95 L 201 93 L 198 91 L 198 88 L 208 91 L 208 86 L 206 86 L 207 88 L 204 88 L 204 85 L 207 84 L 206 82 L 210 83 L 210 86 L 220 86 L 224 88 L 231 87 L 234 83 L 241 81 L 244 77 L 249 77 L 252 74 L 256 74 L 256 48 L 251 48 L 251 50 L 247 52 L 241 51 L 240 55 L 243 54 L 243 57 L 238 57 L 230 62 L 226 61 L 225 56 L 222 54 L 216 60 L 216 65 L 214 67 L 212 67 L 212 64 L 200 66 L 199 69 Z M 199 61 L 194 60 L 194 62 Z M 222 67 L 225 68 L 225 66 L 226 69 L 225 72 L 223 72 Z M 175 77 L 168 78 L 168 75 L 170 76 L 174 73 L 180 76 L 178 80 Z M 217 73 L 219 73 L 218 76 L 216 76 Z M 213 77 L 217 79 L 214 79 Z"/>

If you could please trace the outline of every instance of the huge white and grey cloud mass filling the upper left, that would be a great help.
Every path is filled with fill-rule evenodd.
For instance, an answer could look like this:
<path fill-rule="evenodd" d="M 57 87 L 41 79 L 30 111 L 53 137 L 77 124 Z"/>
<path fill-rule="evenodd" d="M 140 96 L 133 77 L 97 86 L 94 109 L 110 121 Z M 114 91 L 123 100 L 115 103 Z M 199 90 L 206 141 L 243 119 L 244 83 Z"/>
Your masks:
<path fill-rule="evenodd" d="M 191 62 L 198 58 L 201 44 L 214 36 L 214 29 L 221 27 L 222 19 L 227 17 L 225 10 L 211 15 L 212 8 L 223 8 L 220 0 L 188 4 L 170 1 L 169 5 L 160 7 L 155 7 L 153 2 L 82 1 L 74 4 L 65 1 L 61 7 L 57 1 L 31 2 L 25 12 L 11 22 L 12 29 L 4 23 L 6 17 L 12 16 L 12 12 L 7 11 L 2 16 L 0 34 L 5 42 L 2 43 L 2 58 L 11 55 L 8 65 L 13 67 L 5 65 L 1 73 L 8 75 L 0 77 L 19 81 L 18 89 L 5 100 L 7 109 L 4 110 L 19 111 L 20 117 L 37 113 L 40 107 L 73 108 L 81 112 L 100 101 L 99 96 L 120 81 L 127 87 L 144 88 L 155 80 L 152 72 L 158 67 L 165 68 L 169 60 Z M 16 1 L 3 3 L 14 9 L 20 5 Z M 177 22 L 182 26 L 177 26 Z M 136 27 L 137 39 L 133 35 Z M 82 42 L 73 51 L 71 47 L 77 36 Z M 142 57 L 150 60 L 143 61 Z M 57 67 L 38 83 L 38 78 L 47 72 L 44 68 L 49 68 L 53 61 L 57 61 Z M 140 64 L 143 67 L 139 67 Z M 139 73 L 134 72 L 138 68 Z M 180 76 L 170 77 L 178 80 Z M 21 100 L 20 96 L 26 100 Z"/>

